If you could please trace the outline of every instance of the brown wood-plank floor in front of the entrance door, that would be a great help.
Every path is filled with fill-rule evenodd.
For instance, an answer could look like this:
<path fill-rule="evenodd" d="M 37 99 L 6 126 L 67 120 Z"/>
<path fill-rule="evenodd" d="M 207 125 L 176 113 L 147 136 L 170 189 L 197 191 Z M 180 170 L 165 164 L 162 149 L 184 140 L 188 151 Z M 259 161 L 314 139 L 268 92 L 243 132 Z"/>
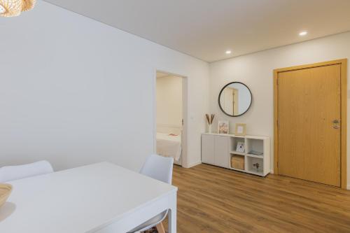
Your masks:
<path fill-rule="evenodd" d="M 350 191 L 328 185 L 206 164 L 174 167 L 173 184 L 179 233 L 350 232 Z"/>

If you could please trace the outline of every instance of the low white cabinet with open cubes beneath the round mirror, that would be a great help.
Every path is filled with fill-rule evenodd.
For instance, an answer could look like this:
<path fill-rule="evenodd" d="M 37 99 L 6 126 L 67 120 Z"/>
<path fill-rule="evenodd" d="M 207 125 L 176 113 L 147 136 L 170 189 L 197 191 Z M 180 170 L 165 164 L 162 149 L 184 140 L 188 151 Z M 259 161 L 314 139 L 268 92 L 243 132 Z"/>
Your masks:
<path fill-rule="evenodd" d="M 244 152 L 237 143 L 244 143 Z M 244 169 L 232 167 L 231 158 L 244 157 Z M 202 162 L 257 176 L 270 172 L 270 143 L 268 136 L 236 136 L 234 134 L 202 134 Z"/>

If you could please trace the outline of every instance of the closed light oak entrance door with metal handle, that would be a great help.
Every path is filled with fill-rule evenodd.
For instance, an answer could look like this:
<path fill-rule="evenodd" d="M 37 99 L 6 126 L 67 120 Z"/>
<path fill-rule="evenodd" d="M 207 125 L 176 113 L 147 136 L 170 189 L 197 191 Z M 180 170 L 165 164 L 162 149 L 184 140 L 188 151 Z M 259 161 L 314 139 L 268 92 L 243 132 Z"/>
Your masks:
<path fill-rule="evenodd" d="M 275 75 L 278 174 L 339 187 L 342 64 L 306 66 Z"/>

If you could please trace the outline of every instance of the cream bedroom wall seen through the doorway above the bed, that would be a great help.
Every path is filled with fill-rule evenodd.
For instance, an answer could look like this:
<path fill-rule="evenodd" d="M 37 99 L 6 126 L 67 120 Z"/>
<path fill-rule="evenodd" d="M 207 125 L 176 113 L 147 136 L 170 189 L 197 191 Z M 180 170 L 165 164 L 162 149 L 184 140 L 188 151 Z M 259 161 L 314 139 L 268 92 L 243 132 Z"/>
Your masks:
<path fill-rule="evenodd" d="M 166 76 L 157 78 L 157 130 L 178 134 L 182 128 L 183 78 Z M 176 128 L 176 132 L 168 132 Z"/>

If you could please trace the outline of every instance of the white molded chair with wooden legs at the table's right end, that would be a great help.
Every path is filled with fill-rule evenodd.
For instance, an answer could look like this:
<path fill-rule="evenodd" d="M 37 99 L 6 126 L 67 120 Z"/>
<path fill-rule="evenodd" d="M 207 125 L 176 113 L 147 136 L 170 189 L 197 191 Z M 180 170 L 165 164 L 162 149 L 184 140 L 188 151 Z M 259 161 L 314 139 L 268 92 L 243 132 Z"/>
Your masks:
<path fill-rule="evenodd" d="M 174 158 L 162 157 L 159 155 L 150 155 L 147 157 L 144 166 L 141 168 L 140 173 L 151 178 L 154 178 L 158 181 L 172 184 L 172 175 L 173 175 L 173 164 Z M 163 211 L 154 218 L 151 218 L 146 223 L 139 225 L 134 228 L 131 232 L 144 232 L 151 229 L 152 227 L 157 226 L 158 232 L 165 232 L 164 227 L 162 226 L 162 220 L 167 217 L 168 210 Z"/>

